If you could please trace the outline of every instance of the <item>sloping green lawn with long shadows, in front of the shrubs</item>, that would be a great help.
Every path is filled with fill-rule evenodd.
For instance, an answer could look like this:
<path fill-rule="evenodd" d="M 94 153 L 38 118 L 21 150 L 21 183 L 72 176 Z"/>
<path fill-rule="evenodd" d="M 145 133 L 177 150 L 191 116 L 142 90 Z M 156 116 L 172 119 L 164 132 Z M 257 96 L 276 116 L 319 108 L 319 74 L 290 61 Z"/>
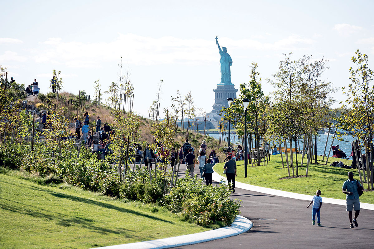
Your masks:
<path fill-rule="evenodd" d="M 0 248 L 91 248 L 208 230 L 153 207 L 0 174 Z"/>

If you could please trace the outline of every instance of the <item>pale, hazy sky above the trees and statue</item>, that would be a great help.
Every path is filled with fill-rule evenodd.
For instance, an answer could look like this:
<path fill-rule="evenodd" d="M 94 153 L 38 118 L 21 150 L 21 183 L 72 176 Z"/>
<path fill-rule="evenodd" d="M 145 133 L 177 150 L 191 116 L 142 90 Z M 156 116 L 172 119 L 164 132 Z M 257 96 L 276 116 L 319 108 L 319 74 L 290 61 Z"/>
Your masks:
<path fill-rule="evenodd" d="M 278 70 L 283 53 L 328 59 L 323 77 L 335 88 L 350 83 L 350 58 L 357 49 L 374 59 L 371 1 L 7 1 L 2 6 L 0 64 L 9 77 L 25 84 L 36 78 L 47 92 L 53 69 L 61 70 L 65 91 L 93 95 L 95 80 L 103 90 L 118 81 L 122 56 L 135 85 L 134 110 L 143 116 L 160 79 L 161 108 L 180 90 L 192 91 L 197 108 L 211 111 L 221 77 L 215 35 L 232 57 L 236 88 L 248 82 L 249 65 L 257 62 L 266 93 L 273 91 L 266 78 Z M 334 98 L 334 107 L 344 100 L 341 91 Z"/>

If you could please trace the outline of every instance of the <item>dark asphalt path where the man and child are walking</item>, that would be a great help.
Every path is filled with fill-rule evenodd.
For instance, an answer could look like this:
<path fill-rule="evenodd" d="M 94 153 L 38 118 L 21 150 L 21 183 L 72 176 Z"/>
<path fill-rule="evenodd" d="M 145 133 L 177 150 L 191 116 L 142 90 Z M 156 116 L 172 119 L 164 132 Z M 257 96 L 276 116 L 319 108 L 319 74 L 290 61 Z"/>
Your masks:
<path fill-rule="evenodd" d="M 178 177 L 184 177 L 185 169 L 181 165 Z M 200 175 L 198 165 L 194 173 Z M 374 211 L 361 209 L 358 227 L 350 228 L 345 206 L 323 203 L 322 227 L 318 227 L 317 217 L 312 226 L 312 207 L 306 208 L 309 201 L 239 188 L 235 191 L 232 198 L 242 200 L 241 215 L 253 222 L 251 230 L 226 239 L 177 248 L 374 248 Z M 322 193 L 322 201 L 323 197 Z"/>

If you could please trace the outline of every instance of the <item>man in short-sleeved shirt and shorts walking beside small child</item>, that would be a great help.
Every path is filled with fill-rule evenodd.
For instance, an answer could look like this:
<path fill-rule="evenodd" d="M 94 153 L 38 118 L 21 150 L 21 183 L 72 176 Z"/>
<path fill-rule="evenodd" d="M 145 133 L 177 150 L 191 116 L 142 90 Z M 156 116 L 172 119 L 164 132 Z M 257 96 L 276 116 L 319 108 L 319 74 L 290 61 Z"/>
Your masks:
<path fill-rule="evenodd" d="M 343 183 L 343 193 L 346 194 L 347 200 L 347 211 L 350 222 L 350 228 L 353 228 L 353 224 L 358 227 L 357 217 L 360 214 L 360 197 L 357 189 L 362 188 L 358 180 L 353 179 L 353 172 L 348 172 L 348 180 Z M 352 209 L 355 209 L 355 218 L 352 219 Z"/>

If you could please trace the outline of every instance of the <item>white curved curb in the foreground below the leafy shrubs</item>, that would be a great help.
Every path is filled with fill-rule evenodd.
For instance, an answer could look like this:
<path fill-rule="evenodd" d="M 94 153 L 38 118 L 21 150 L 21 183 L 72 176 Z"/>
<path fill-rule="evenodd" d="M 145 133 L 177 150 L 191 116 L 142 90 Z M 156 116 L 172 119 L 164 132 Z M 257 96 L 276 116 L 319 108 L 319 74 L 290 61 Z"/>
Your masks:
<path fill-rule="evenodd" d="M 114 246 L 104 246 L 95 249 L 161 249 L 176 246 L 192 245 L 210 240 L 223 239 L 244 233 L 251 229 L 252 221 L 238 215 L 231 226 L 221 227 L 201 233 L 186 234 L 165 239 L 148 240 L 143 242 L 128 243 Z"/>

